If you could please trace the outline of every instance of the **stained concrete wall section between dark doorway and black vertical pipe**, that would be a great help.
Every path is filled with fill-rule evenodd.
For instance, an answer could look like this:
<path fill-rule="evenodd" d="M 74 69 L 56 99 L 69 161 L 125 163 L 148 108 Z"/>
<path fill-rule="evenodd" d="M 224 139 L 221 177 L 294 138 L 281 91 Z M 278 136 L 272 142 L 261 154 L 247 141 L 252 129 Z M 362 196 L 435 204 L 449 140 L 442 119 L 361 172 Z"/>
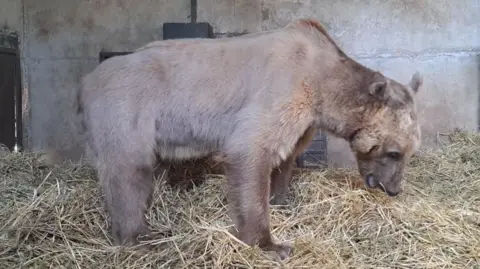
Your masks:
<path fill-rule="evenodd" d="M 186 21 L 188 0 L 24 0 L 32 150 L 74 142 L 75 87 L 101 50 L 128 51 L 162 38 L 166 21 Z"/>

